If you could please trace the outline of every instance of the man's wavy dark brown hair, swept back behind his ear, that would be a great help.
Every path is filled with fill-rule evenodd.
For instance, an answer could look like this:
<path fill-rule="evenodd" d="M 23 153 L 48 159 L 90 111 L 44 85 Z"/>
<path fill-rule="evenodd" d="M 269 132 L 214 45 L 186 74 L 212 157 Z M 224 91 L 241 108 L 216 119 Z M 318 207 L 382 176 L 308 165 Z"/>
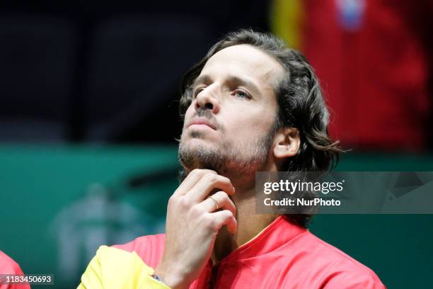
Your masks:
<path fill-rule="evenodd" d="M 270 33 L 238 30 L 227 34 L 207 52 L 183 77 L 179 113 L 183 117 L 192 102 L 192 84 L 212 55 L 233 45 L 252 45 L 282 64 L 284 77 L 275 87 L 279 112 L 278 127 L 297 128 L 301 146 L 295 157 L 290 157 L 283 171 L 332 170 L 342 149 L 328 136 L 329 113 L 318 78 L 304 55 L 287 47 L 283 40 Z M 308 227 L 311 214 L 287 215 L 287 220 Z"/>

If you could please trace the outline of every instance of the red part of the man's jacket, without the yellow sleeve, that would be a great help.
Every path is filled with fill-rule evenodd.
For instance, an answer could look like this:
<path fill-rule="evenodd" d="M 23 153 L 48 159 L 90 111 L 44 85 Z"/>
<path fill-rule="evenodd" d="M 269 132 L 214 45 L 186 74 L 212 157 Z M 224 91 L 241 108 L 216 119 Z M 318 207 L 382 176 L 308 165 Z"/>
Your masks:
<path fill-rule="evenodd" d="M 164 244 L 165 235 L 158 234 L 115 247 L 137 252 L 144 263 L 156 268 Z M 211 273 L 209 262 L 190 289 L 211 287 Z M 216 274 L 214 288 L 385 288 L 362 263 L 284 216 L 226 256 Z"/>

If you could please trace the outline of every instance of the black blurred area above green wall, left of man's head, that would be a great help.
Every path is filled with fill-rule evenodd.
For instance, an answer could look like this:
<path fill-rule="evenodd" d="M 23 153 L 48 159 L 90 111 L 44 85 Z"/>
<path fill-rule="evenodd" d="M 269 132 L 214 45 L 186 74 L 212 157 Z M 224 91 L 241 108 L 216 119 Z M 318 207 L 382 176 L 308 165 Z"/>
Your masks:
<path fill-rule="evenodd" d="M 0 24 L 0 140 L 166 142 L 180 77 L 267 1 L 11 1 Z"/>

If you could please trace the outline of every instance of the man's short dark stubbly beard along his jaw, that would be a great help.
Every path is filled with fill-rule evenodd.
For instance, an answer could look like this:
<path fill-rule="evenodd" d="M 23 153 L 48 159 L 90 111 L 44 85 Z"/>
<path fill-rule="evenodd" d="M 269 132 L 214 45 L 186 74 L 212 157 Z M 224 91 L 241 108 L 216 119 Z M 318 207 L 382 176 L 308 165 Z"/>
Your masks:
<path fill-rule="evenodd" d="M 230 176 L 237 179 L 251 179 L 255 171 L 266 164 L 272 141 L 277 132 L 278 120 L 265 135 L 255 137 L 254 140 L 239 144 L 228 140 L 221 130 L 221 145 L 218 148 L 208 147 L 204 144 L 185 145 L 184 137 L 180 139 L 178 157 L 184 167 L 180 175 L 183 181 L 192 169 L 211 169 L 221 176 Z M 204 132 L 189 132 L 192 139 L 204 137 Z"/>

